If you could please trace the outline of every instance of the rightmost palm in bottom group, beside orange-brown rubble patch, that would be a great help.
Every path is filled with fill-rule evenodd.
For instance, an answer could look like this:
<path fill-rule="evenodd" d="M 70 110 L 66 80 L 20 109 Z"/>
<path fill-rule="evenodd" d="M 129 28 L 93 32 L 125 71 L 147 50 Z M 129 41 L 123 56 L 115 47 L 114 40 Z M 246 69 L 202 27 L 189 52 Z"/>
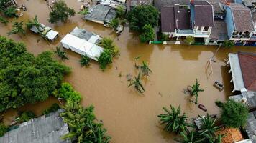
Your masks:
<path fill-rule="evenodd" d="M 211 118 L 209 114 L 206 117 L 201 117 L 200 115 L 198 117 L 201 118 L 202 123 L 199 135 L 204 137 L 207 142 L 214 143 L 214 140 L 217 138 L 215 132 L 219 129 L 215 124 L 216 119 Z"/>

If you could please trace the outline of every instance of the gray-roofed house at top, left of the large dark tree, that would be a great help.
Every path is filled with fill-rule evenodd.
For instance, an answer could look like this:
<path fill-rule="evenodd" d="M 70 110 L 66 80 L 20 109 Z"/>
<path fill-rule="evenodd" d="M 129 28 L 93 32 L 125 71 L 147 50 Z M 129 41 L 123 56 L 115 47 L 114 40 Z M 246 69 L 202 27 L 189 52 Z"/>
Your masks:
<path fill-rule="evenodd" d="M 99 24 L 109 24 L 116 18 L 116 10 L 110 6 L 98 4 L 89 9 L 89 13 L 83 16 L 83 19 L 93 21 Z"/>

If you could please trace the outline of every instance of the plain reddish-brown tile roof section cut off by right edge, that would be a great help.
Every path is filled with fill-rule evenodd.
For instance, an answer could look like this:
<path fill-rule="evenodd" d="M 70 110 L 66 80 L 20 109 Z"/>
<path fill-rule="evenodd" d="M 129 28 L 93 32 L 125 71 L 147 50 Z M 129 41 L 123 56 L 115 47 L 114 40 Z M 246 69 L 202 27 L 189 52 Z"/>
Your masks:
<path fill-rule="evenodd" d="M 238 53 L 239 63 L 247 90 L 256 91 L 256 53 Z"/>

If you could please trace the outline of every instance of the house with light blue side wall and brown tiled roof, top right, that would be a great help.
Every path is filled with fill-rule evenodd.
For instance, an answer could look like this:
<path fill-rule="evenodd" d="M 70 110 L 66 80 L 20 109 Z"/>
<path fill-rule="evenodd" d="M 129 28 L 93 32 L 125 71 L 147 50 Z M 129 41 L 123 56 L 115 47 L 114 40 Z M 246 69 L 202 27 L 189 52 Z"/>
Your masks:
<path fill-rule="evenodd" d="M 255 31 L 250 9 L 242 4 L 233 3 L 226 4 L 224 9 L 226 9 L 225 22 L 229 40 L 237 45 L 246 44 Z"/>

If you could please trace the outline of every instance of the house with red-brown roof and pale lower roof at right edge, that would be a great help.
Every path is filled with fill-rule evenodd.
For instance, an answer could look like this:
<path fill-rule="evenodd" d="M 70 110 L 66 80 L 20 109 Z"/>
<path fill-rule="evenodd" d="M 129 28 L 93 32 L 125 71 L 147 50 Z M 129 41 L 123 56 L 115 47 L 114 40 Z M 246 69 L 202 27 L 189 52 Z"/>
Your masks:
<path fill-rule="evenodd" d="M 230 71 L 234 84 L 232 92 L 240 94 L 230 96 L 237 102 L 244 102 L 250 109 L 256 108 L 256 54 L 229 54 Z"/>

